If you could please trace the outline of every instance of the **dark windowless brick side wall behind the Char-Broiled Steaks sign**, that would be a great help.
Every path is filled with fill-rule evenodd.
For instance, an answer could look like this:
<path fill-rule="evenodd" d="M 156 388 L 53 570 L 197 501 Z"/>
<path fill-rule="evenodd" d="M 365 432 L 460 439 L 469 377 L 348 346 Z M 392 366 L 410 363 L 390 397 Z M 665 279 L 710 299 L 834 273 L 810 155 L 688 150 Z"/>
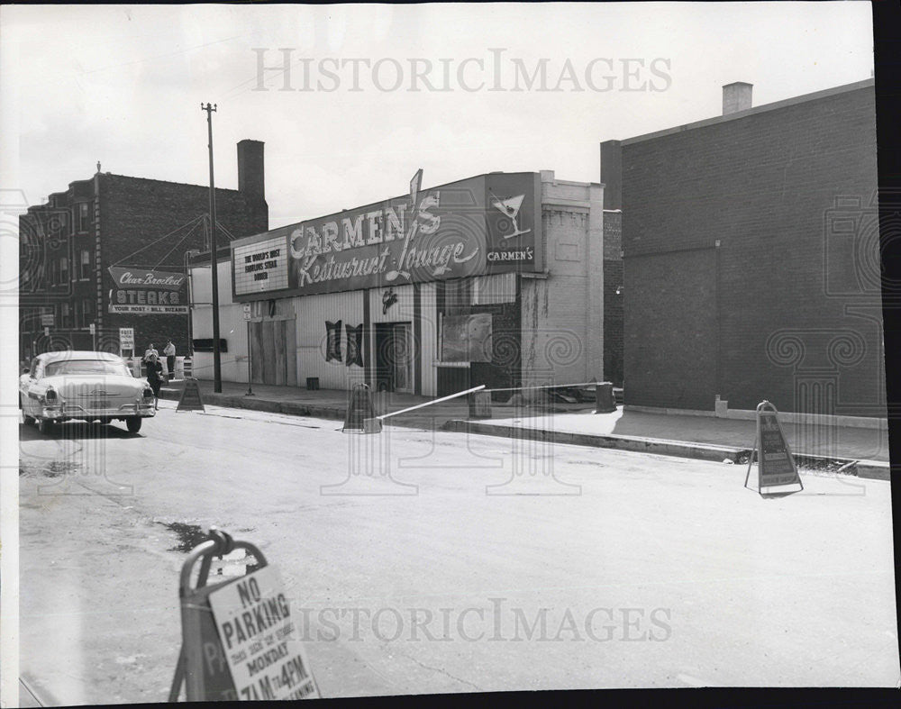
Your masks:
<path fill-rule="evenodd" d="M 102 175 L 100 198 L 105 310 L 113 286 L 112 277 L 106 271 L 109 266 L 122 260 L 121 265 L 183 272 L 185 251 L 206 248 L 202 226 L 197 226 L 190 235 L 190 230 L 184 227 L 209 212 L 207 187 Z M 265 232 L 268 207 L 264 201 L 241 192 L 216 189 L 216 221 L 236 238 Z M 175 235 L 158 241 L 175 230 L 178 230 Z M 225 233 L 219 233 L 220 245 L 227 239 Z M 187 315 L 105 312 L 104 325 L 106 331 L 115 333 L 120 327 L 133 327 L 135 347 L 141 354 L 149 342 L 162 354 L 167 339 L 173 341 L 179 355 L 188 351 Z"/>

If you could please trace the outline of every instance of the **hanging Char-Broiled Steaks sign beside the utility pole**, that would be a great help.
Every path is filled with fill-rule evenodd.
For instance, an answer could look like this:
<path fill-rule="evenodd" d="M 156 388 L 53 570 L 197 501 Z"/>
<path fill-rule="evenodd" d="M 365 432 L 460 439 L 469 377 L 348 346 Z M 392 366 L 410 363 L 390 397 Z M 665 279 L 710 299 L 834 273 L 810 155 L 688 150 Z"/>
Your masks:
<path fill-rule="evenodd" d="M 187 276 L 149 268 L 111 266 L 110 313 L 187 314 Z"/>

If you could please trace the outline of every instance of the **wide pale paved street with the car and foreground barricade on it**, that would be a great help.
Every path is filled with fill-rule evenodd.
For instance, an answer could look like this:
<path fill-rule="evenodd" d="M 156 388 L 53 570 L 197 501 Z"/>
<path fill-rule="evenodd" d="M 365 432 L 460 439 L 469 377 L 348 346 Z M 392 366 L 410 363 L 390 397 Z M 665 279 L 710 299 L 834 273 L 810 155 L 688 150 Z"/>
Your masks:
<path fill-rule="evenodd" d="M 885 481 L 173 402 L 21 435 L 22 671 L 62 704 L 165 701 L 172 523 L 260 547 L 325 697 L 898 681 Z"/>

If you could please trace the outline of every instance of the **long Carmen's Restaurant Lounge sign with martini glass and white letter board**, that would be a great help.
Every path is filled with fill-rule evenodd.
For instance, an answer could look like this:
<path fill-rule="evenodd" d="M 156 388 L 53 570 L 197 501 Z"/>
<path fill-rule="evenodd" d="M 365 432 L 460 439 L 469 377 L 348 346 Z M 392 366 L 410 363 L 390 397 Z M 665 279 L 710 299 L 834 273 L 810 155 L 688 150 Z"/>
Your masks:
<path fill-rule="evenodd" d="M 490 173 L 232 242 L 241 300 L 401 286 L 542 263 L 541 176 Z"/>

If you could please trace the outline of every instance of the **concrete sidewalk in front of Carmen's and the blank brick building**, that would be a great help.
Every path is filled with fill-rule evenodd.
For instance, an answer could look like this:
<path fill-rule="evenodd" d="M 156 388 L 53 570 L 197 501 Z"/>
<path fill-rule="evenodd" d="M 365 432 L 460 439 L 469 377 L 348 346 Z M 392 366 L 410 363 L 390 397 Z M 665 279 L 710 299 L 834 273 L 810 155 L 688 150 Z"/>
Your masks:
<path fill-rule="evenodd" d="M 206 404 L 256 411 L 321 418 L 344 418 L 349 392 L 339 389 L 308 390 L 298 386 L 252 385 L 223 382 L 214 394 L 213 382 L 198 381 Z M 163 387 L 160 397 L 177 400 L 184 382 Z M 400 411 L 431 397 L 392 393 L 373 395 L 376 414 Z M 742 463 L 754 445 L 754 421 L 714 416 L 651 414 L 618 406 L 610 414 L 594 414 L 594 405 L 553 404 L 551 409 L 530 409 L 492 404 L 493 418 L 470 420 L 466 397 L 433 404 L 409 414 L 399 414 L 386 424 L 568 443 L 597 448 L 638 450 L 660 455 L 729 460 Z M 889 479 L 888 434 L 885 428 L 806 426 L 783 423 L 789 446 L 801 467 L 834 470 L 846 463 L 851 474 Z"/>

